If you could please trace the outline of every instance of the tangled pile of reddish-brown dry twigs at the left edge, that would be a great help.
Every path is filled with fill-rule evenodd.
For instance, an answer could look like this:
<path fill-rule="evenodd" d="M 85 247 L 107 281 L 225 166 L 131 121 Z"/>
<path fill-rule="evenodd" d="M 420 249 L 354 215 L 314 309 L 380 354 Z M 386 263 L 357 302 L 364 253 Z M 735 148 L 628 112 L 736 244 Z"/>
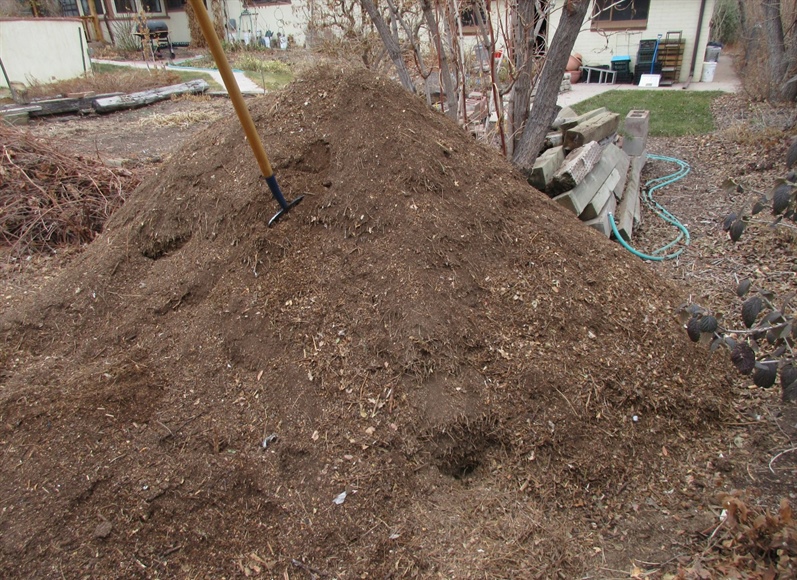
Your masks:
<path fill-rule="evenodd" d="M 15 254 L 90 242 L 139 179 L 0 125 L 0 238 Z"/>

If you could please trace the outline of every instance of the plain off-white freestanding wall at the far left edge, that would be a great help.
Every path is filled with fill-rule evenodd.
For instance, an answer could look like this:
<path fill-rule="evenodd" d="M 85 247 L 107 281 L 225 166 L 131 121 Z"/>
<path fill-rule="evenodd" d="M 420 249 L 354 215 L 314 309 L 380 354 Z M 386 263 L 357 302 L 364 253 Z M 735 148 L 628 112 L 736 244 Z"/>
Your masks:
<path fill-rule="evenodd" d="M 0 59 L 12 83 L 75 78 L 91 70 L 83 34 L 78 18 L 0 19 Z M 7 86 L 0 75 L 0 87 Z"/>

